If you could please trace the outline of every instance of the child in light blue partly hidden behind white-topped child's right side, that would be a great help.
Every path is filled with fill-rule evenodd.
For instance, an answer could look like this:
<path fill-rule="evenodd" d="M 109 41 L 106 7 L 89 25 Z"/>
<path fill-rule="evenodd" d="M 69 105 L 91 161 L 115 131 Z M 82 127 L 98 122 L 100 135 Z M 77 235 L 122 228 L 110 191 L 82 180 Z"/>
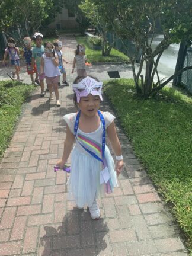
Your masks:
<path fill-rule="evenodd" d="M 69 86 L 69 83 L 66 81 L 66 71 L 65 71 L 65 68 L 63 66 L 63 62 L 65 62 L 66 64 L 68 62 L 63 58 L 62 41 L 56 40 L 56 41 L 53 42 L 53 45 L 55 46 L 55 51 L 56 51 L 58 59 L 59 59 L 59 69 L 60 69 L 60 72 L 63 74 L 63 81 L 62 81 L 62 83 L 65 86 Z M 60 82 L 59 82 L 59 86 L 61 86 Z"/>

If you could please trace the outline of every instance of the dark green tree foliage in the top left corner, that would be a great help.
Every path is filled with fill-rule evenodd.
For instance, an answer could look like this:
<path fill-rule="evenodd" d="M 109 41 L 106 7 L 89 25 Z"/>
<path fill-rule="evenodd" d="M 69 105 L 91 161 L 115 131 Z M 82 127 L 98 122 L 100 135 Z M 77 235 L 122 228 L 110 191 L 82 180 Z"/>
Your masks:
<path fill-rule="evenodd" d="M 40 27 L 46 27 L 62 11 L 62 0 L 7 0 L 0 2 L 0 28 L 17 27 L 27 24 L 27 34 L 33 35 Z"/>

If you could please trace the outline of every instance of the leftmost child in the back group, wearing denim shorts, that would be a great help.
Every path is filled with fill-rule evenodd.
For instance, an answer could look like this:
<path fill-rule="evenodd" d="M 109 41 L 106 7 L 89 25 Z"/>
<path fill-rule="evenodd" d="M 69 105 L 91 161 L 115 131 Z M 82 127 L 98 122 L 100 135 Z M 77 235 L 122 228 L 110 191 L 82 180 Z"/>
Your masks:
<path fill-rule="evenodd" d="M 2 64 L 5 65 L 6 57 L 9 55 L 9 59 L 11 60 L 11 65 L 14 66 L 15 71 L 12 72 L 12 78 L 15 78 L 15 74 L 17 75 L 18 81 L 23 81 L 20 78 L 20 57 L 18 56 L 20 50 L 16 46 L 15 40 L 12 37 L 7 39 L 7 48 L 5 49 L 4 59 Z"/>

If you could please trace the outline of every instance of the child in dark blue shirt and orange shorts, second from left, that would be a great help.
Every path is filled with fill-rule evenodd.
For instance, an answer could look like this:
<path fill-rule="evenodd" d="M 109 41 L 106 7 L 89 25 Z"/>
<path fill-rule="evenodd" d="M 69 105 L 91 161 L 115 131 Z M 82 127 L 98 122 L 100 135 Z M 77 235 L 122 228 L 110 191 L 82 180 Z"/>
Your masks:
<path fill-rule="evenodd" d="M 26 66 L 27 66 L 27 73 L 28 73 L 28 75 L 31 76 L 32 84 L 39 84 L 36 63 L 34 64 L 34 66 L 31 65 L 33 48 L 31 47 L 30 37 L 27 37 L 27 36 L 24 37 L 23 42 L 24 42 L 24 45 L 25 45 L 25 47 L 23 49 L 23 51 L 24 51 L 23 56 L 24 56 L 25 63 L 26 63 Z M 34 81 L 34 78 L 33 78 L 34 73 L 36 73 L 35 81 Z"/>

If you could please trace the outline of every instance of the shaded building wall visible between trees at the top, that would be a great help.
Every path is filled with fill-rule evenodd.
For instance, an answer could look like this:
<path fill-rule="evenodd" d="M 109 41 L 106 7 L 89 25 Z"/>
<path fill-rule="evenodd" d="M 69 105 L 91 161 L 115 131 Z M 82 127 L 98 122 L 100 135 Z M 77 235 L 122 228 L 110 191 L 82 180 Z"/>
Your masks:
<path fill-rule="evenodd" d="M 57 14 L 55 21 L 49 24 L 49 28 L 76 28 L 78 27 L 78 23 L 76 22 L 76 15 L 75 17 L 69 17 L 68 9 L 62 8 L 62 12 Z"/>

